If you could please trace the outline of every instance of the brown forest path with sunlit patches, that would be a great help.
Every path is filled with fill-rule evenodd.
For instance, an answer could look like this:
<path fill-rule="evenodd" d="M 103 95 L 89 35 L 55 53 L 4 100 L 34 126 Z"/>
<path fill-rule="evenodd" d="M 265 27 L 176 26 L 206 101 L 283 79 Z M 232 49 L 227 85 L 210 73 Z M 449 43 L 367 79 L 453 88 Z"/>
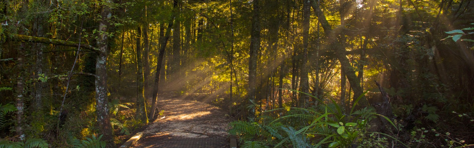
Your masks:
<path fill-rule="evenodd" d="M 228 148 L 228 123 L 225 112 L 204 102 L 160 99 L 163 111 L 146 130 L 135 148 Z"/>

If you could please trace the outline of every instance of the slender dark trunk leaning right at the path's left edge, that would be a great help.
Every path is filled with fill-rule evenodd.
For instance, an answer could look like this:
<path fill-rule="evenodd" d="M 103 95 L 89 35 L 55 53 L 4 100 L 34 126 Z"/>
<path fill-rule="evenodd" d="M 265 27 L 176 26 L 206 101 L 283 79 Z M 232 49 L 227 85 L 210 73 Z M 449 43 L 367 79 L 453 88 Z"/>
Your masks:
<path fill-rule="evenodd" d="M 176 16 L 177 9 L 178 9 L 178 0 L 173 0 L 173 10 L 171 11 L 170 19 L 168 20 L 168 28 L 166 28 L 166 34 L 164 35 L 163 38 L 160 38 L 161 45 L 160 45 L 160 52 L 158 55 L 158 62 L 157 62 L 156 71 L 155 71 L 156 72 L 155 83 L 153 83 L 153 97 L 152 97 L 152 103 L 151 103 L 151 110 L 150 110 L 150 113 L 148 114 L 149 119 L 153 119 L 155 116 L 156 100 L 158 98 L 160 71 L 163 64 L 164 49 L 166 47 L 166 43 L 168 42 L 168 39 L 170 38 L 170 32 L 171 32 L 171 28 L 173 28 L 173 20 L 174 20 L 174 17 Z"/>

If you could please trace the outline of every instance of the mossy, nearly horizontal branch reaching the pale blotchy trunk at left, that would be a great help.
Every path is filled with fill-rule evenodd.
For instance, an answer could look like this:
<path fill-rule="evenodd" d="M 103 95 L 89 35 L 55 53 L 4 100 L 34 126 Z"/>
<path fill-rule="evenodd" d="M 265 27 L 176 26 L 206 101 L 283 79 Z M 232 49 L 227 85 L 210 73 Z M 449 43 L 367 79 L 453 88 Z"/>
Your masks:
<path fill-rule="evenodd" d="M 18 34 L 9 34 L 9 36 L 10 36 L 9 39 L 12 41 L 44 43 L 44 44 L 53 44 L 53 45 L 70 46 L 70 47 L 80 46 L 81 48 L 89 49 L 92 52 L 99 51 L 99 49 L 94 46 L 90 46 L 87 44 L 79 44 L 77 42 L 65 41 L 65 40 L 60 40 L 60 39 L 51 39 L 51 38 L 45 38 L 45 37 L 32 37 L 32 36 L 25 36 L 25 35 L 18 35 Z"/>

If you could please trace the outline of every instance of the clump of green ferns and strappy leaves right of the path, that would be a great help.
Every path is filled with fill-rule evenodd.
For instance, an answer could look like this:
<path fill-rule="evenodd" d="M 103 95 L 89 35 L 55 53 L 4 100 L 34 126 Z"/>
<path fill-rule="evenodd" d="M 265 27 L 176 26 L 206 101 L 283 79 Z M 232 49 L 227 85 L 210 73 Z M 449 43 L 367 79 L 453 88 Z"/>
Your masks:
<path fill-rule="evenodd" d="M 257 117 L 256 121 L 231 122 L 232 129 L 229 130 L 229 134 L 237 135 L 244 145 L 345 148 L 354 144 L 369 145 L 370 143 L 374 147 L 387 146 L 387 138 L 374 137 L 373 133 L 368 132 L 369 122 L 375 116 L 382 116 L 376 114 L 374 108 L 351 110 L 349 116 L 346 116 L 339 104 L 332 99 L 328 100 L 329 102 L 321 103 L 322 105 L 314 108 L 292 108 L 284 116 L 273 120 L 263 115 L 270 112 L 265 111 Z M 256 135 L 261 136 L 256 138 Z"/>

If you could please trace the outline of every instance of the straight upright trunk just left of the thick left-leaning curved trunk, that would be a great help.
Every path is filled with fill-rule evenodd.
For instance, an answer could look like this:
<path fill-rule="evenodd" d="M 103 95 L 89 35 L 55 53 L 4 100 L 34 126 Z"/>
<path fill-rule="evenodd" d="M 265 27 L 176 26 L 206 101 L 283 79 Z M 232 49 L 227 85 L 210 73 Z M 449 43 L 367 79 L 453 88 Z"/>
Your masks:
<path fill-rule="evenodd" d="M 303 93 L 309 93 L 309 78 L 308 78 L 308 41 L 310 36 L 310 16 L 311 16 L 311 2 L 309 0 L 303 0 L 303 53 L 301 61 L 301 79 L 300 89 Z M 310 97 L 306 94 L 301 94 L 300 106 L 308 107 Z"/>

